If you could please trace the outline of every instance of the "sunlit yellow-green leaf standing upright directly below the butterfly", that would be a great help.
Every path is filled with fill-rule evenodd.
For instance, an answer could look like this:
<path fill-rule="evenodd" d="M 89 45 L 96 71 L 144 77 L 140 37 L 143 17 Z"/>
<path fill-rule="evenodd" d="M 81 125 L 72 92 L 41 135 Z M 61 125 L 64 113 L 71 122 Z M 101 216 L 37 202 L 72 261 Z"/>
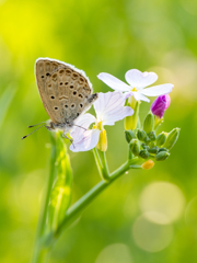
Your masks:
<path fill-rule="evenodd" d="M 72 185 L 70 158 L 60 133 L 57 133 L 56 148 L 57 176 L 50 193 L 48 218 L 53 230 L 57 229 L 62 221 L 70 205 Z"/>

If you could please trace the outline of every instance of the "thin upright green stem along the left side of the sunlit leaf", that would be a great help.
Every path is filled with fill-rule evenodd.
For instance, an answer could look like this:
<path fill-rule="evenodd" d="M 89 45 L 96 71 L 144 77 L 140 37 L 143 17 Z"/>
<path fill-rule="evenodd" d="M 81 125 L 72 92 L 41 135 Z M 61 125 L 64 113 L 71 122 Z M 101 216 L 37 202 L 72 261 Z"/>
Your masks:
<path fill-rule="evenodd" d="M 50 191 L 54 182 L 55 176 L 55 162 L 56 162 L 56 141 L 54 138 L 54 135 L 50 136 L 51 140 L 51 153 L 50 153 L 50 171 L 48 176 L 48 186 L 45 195 L 45 198 L 43 199 L 42 204 L 42 210 L 38 218 L 38 225 L 37 225 L 37 233 L 36 233 L 36 240 L 35 240 L 35 247 L 34 247 L 34 253 L 33 253 L 33 260 L 32 263 L 38 263 L 43 262 L 43 260 L 46 256 L 47 250 L 43 250 L 40 247 L 40 239 L 45 232 L 46 227 L 46 219 L 47 219 L 47 208 L 50 197 Z"/>

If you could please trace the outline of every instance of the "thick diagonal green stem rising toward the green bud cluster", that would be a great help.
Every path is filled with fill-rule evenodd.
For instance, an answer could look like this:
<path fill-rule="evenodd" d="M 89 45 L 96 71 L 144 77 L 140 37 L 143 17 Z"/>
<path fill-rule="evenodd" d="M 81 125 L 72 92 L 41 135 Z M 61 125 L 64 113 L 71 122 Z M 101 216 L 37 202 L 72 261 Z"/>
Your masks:
<path fill-rule="evenodd" d="M 76 204 L 73 204 L 67 211 L 65 219 L 59 225 L 55 232 L 55 237 L 58 237 L 65 227 L 68 227 L 74 219 L 79 217 L 79 214 L 86 208 L 86 206 L 92 203 L 95 197 L 97 197 L 108 185 L 111 185 L 117 178 L 129 170 L 131 162 L 124 163 L 120 168 L 114 171 L 108 181 L 101 181 L 92 190 L 90 190 L 85 195 L 83 195 Z"/>

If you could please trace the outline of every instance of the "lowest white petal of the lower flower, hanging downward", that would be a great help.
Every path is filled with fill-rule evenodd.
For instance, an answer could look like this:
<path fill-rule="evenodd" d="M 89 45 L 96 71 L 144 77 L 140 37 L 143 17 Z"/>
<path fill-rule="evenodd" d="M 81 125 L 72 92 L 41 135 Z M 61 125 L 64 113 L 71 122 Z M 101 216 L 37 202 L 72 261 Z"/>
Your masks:
<path fill-rule="evenodd" d="M 86 130 L 80 141 L 73 140 L 72 145 L 70 146 L 70 150 L 78 152 L 93 149 L 99 142 L 100 133 L 101 130 L 99 129 Z"/>

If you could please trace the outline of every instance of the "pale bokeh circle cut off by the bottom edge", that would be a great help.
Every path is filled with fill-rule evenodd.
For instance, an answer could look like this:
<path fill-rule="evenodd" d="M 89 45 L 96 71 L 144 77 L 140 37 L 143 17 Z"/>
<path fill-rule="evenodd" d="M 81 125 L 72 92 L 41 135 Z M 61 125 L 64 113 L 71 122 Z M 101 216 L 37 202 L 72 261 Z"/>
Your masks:
<path fill-rule="evenodd" d="M 129 248 L 124 243 L 114 243 L 104 248 L 95 263 L 132 263 Z"/>

